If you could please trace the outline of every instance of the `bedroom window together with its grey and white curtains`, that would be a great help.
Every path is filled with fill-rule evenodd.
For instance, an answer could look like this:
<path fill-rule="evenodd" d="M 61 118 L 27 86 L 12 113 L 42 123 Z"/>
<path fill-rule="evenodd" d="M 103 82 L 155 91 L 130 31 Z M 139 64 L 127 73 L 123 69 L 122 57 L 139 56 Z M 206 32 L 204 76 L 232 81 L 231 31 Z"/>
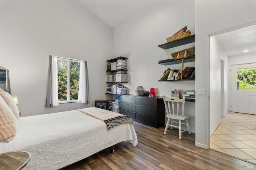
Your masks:
<path fill-rule="evenodd" d="M 90 103 L 87 62 L 49 56 L 46 107 Z"/>

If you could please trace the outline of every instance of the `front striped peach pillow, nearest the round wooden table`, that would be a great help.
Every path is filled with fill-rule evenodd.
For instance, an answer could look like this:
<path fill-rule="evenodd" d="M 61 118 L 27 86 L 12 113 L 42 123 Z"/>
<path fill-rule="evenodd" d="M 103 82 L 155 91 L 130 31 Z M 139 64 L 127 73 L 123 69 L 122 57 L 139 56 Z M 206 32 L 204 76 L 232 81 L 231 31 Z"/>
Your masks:
<path fill-rule="evenodd" d="M 10 142 L 16 135 L 18 120 L 0 97 L 0 142 Z"/>

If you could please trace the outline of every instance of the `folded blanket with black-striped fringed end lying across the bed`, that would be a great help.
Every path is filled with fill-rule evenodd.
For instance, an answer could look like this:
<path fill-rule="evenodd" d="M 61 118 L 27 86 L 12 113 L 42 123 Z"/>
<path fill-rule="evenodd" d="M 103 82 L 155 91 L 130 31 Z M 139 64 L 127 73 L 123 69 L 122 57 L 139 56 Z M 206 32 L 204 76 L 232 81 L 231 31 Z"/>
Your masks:
<path fill-rule="evenodd" d="M 96 119 L 104 121 L 107 124 L 108 129 L 124 123 L 133 123 L 133 119 L 126 115 L 115 113 L 113 111 L 105 109 L 100 109 L 98 107 L 88 107 L 78 110 L 82 113 L 86 113 L 92 117 L 95 117 Z"/>

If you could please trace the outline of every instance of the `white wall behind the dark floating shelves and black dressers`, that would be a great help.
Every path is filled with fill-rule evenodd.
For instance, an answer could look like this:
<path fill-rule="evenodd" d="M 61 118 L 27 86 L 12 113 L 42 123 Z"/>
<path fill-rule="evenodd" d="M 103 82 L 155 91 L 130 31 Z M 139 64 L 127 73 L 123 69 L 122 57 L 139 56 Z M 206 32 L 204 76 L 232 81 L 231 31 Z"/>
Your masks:
<path fill-rule="evenodd" d="M 181 69 L 181 64 L 164 66 L 158 62 L 170 58 L 172 52 L 195 45 L 190 43 L 168 50 L 158 47 L 186 25 L 194 35 L 194 5 L 194 0 L 162 0 L 158 6 L 114 29 L 114 55 L 128 58 L 128 83 L 123 84 L 128 87 L 128 93 L 135 94 L 138 86 L 145 90 L 157 88 L 157 96 L 170 96 L 174 89 L 195 89 L 194 81 L 158 82 L 167 68 Z M 186 66 L 195 66 L 195 62 L 184 63 Z M 185 112 L 190 115 L 191 129 L 195 132 L 195 103 L 186 102 Z"/>

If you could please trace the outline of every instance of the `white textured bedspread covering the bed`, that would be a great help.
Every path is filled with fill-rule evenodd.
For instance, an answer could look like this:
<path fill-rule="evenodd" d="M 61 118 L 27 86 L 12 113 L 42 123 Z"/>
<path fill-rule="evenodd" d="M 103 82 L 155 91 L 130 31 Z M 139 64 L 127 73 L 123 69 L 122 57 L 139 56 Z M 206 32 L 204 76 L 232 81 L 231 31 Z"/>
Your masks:
<path fill-rule="evenodd" d="M 0 153 L 28 151 L 31 159 L 24 170 L 56 170 L 122 141 L 137 145 L 132 124 L 108 130 L 103 121 L 72 110 L 20 117 L 16 137 L 0 143 Z"/>

